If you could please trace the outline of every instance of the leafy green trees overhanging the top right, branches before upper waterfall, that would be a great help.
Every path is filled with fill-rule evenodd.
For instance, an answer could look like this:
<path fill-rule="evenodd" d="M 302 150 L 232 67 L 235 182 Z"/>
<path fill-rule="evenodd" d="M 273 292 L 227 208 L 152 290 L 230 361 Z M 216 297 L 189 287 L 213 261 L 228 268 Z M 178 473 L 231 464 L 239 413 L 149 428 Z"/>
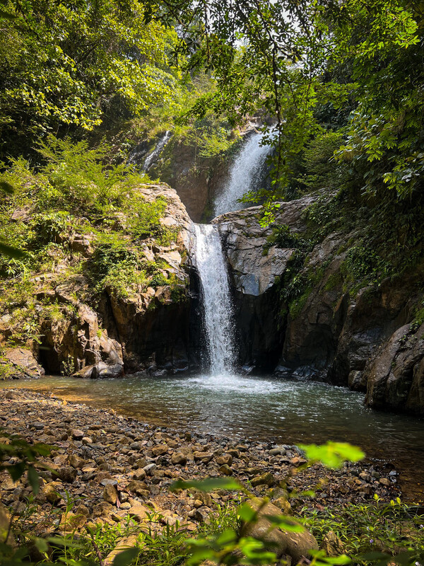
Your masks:
<path fill-rule="evenodd" d="M 205 67 L 216 78 L 218 92 L 196 112 L 212 106 L 237 120 L 259 100 L 274 117 L 276 134 L 266 139 L 276 149 L 271 200 L 319 131 L 319 108 L 348 100 L 355 112 L 339 156 L 365 162 L 367 190 L 385 183 L 404 196 L 420 187 L 423 2 L 163 0 L 151 13 L 152 6 L 163 21 L 178 22 L 186 68 Z"/>

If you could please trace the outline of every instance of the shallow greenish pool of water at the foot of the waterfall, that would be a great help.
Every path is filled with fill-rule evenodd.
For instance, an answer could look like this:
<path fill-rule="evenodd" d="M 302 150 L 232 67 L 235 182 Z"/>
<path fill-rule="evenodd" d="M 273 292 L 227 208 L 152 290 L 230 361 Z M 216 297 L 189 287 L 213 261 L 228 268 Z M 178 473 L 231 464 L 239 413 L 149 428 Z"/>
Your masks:
<path fill-rule="evenodd" d="M 407 499 L 424 499 L 424 421 L 367 409 L 363 394 L 347 388 L 250 376 L 45 377 L 0 387 L 54 393 L 143 422 L 230 439 L 348 441 L 369 458 L 392 463 Z"/>

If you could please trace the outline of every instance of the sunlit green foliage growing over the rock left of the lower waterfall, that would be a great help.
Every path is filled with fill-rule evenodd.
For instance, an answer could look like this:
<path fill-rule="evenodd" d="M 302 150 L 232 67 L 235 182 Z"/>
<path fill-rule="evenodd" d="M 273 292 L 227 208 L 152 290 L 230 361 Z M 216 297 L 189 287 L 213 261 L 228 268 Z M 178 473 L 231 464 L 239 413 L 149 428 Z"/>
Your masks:
<path fill-rule="evenodd" d="M 127 298 L 161 285 L 170 286 L 175 300 L 184 299 L 179 280 L 163 275 L 169 266 L 148 261 L 140 246 L 146 240 L 169 246 L 178 233 L 161 224 L 165 198 L 147 201 L 141 194 L 146 175 L 110 163 L 106 144 L 89 149 L 86 141 L 49 137 L 40 151 L 46 163 L 38 171 L 20 158 L 0 173 L 13 187 L 0 196 L 0 241 L 20 250 L 18 259 L 0 255 L 0 313 L 9 317 L 6 345 L 33 347 L 42 342 L 42 328 L 76 321 L 71 303 L 36 299 L 40 272 L 51 274 L 43 293 L 82 273 L 89 284 L 76 301 L 95 301 L 105 289 Z M 11 219 L 16 210 L 22 220 Z M 70 371 L 64 362 L 64 371 Z M 10 374 L 6 364 L 1 367 L 3 376 Z"/>

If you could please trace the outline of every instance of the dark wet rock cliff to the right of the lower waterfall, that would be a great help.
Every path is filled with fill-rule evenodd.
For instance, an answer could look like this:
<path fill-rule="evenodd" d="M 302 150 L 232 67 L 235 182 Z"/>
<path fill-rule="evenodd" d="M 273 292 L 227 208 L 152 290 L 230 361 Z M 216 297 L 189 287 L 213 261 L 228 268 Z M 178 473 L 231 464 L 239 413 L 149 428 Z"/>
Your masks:
<path fill-rule="evenodd" d="M 414 323 L 422 301 L 419 272 L 349 286 L 343 270 L 355 232 L 330 233 L 300 255 L 305 211 L 316 199 L 281 203 L 266 228 L 260 207 L 213 220 L 234 287 L 241 364 L 367 391 L 375 408 L 424 412 L 423 326 Z M 291 239 L 271 245 L 273 228 L 281 225 Z"/>

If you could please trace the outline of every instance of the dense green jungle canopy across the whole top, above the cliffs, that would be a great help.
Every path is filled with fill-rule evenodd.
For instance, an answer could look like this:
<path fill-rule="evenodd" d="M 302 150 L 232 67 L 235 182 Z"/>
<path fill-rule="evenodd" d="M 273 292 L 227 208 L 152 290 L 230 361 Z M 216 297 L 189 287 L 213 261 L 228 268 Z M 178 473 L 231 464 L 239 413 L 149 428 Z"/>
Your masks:
<path fill-rule="evenodd" d="M 0 21 L 6 176 L 17 159 L 45 166 L 52 137 L 106 137 L 107 167 L 165 129 L 222 155 L 259 114 L 274 127 L 265 221 L 274 201 L 325 190 L 332 228 L 353 207 L 376 253 L 420 255 L 422 2 L 4 0 Z"/>

